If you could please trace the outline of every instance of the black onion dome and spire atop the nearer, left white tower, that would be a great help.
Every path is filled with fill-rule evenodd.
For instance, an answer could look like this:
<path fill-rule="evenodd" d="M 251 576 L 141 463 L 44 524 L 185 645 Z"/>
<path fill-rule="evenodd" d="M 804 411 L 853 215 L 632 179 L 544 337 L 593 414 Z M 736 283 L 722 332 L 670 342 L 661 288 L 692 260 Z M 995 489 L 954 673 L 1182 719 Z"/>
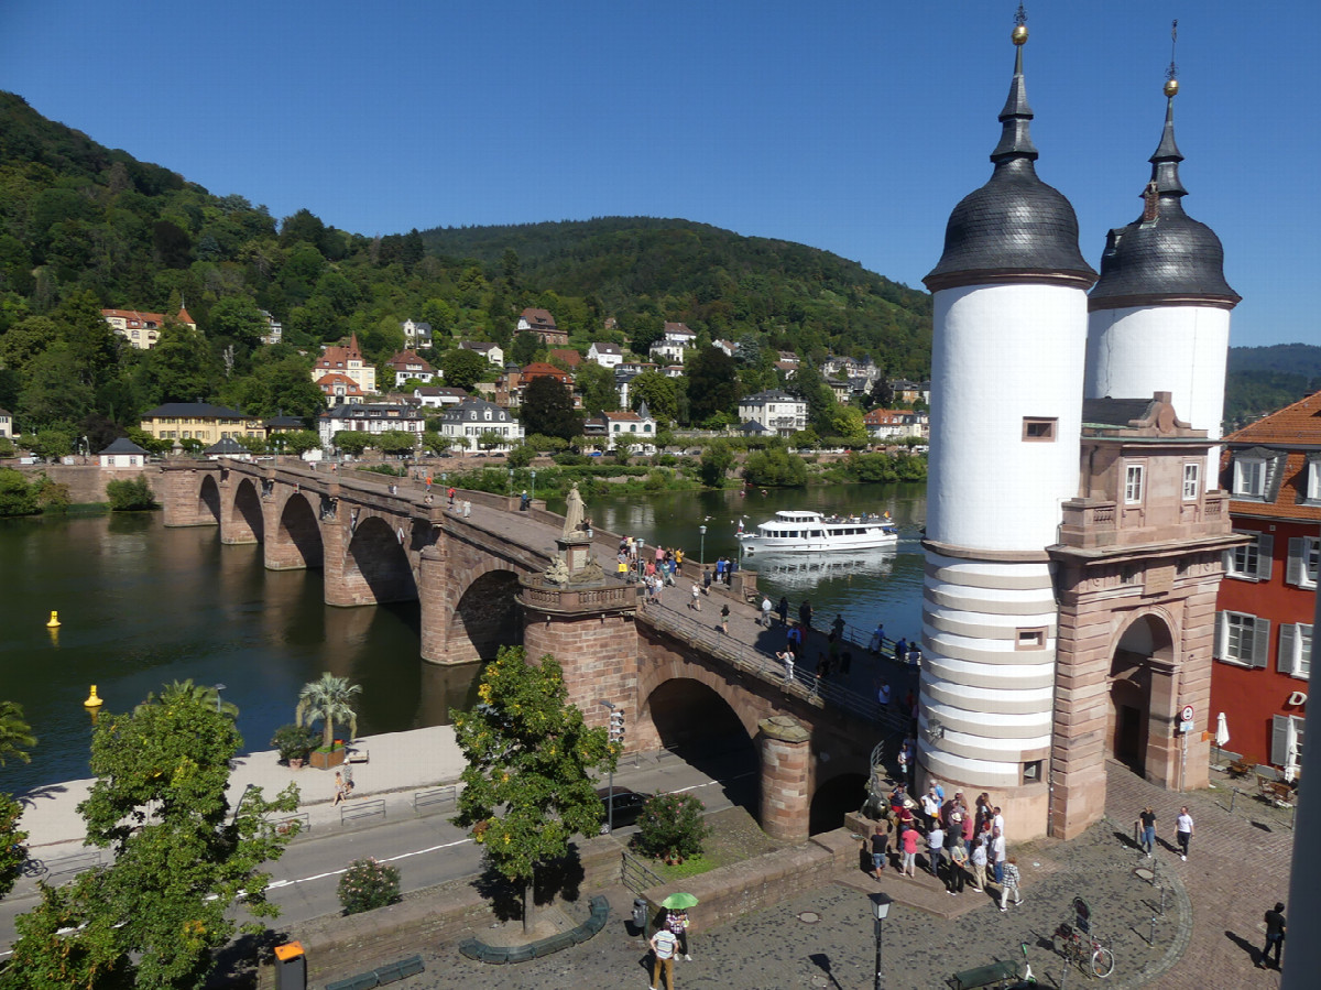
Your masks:
<path fill-rule="evenodd" d="M 1082 286 L 1096 272 L 1078 250 L 1078 217 L 1063 193 L 1037 178 L 1032 107 L 1015 58 L 1009 98 L 1000 111 L 1000 143 L 991 153 L 991 181 L 963 197 L 945 227 L 945 252 L 923 279 L 933 292 L 989 282 Z"/>

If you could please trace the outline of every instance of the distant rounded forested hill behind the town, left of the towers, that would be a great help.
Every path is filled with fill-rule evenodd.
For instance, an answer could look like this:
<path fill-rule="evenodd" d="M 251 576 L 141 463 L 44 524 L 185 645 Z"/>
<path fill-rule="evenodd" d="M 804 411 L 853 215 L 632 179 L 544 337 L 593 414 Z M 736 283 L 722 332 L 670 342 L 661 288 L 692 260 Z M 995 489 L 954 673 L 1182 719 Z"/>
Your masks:
<path fill-rule="evenodd" d="M 513 251 L 526 282 L 587 297 L 642 352 L 676 320 L 803 354 L 872 354 L 894 375 L 930 371 L 931 297 L 814 247 L 650 217 L 444 227 L 423 241 L 486 266 Z"/>

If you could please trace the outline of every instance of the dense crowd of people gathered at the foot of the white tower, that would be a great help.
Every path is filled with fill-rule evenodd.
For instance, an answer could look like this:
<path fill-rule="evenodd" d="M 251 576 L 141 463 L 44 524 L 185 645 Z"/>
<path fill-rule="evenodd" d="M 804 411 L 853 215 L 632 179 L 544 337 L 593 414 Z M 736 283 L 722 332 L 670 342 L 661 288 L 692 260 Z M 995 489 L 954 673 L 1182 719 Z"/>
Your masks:
<path fill-rule="evenodd" d="M 1022 903 L 1018 867 L 1008 855 L 1004 813 L 987 793 L 978 794 L 970 808 L 962 790 L 946 798 L 939 781 L 921 798 L 897 784 L 871 837 L 871 853 L 872 876 L 877 880 L 888 866 L 900 876 L 915 879 L 918 854 L 925 853 L 923 868 L 945 884 L 951 897 L 967 887 L 980 894 L 995 886 L 1000 911 L 1008 911 L 1011 896 L 1015 904 Z"/>

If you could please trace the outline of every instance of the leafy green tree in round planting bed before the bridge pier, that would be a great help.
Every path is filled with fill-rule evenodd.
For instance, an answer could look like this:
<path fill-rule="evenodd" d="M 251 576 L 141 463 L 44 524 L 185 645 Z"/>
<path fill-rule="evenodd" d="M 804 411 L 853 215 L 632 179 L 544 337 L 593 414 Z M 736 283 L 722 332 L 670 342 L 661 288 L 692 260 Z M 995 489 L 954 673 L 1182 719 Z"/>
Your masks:
<path fill-rule="evenodd" d="M 502 646 L 477 697 L 472 711 L 449 712 L 468 764 L 450 821 L 470 829 L 487 864 L 522 888 L 527 931 L 538 868 L 564 857 L 573 835 L 596 834 L 602 806 L 590 775 L 618 757 L 606 731 L 588 728 L 568 703 L 550 654 L 528 664 L 522 646 Z"/>

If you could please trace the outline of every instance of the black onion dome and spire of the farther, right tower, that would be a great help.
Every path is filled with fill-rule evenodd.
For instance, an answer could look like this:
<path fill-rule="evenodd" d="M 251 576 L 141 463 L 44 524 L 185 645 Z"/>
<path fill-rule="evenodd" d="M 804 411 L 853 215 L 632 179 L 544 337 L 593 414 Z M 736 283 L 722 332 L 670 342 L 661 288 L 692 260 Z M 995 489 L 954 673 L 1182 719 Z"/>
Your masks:
<path fill-rule="evenodd" d="M 1160 147 L 1151 157 L 1152 177 L 1143 192 L 1143 215 L 1106 238 L 1089 309 L 1178 303 L 1230 309 L 1238 304 L 1240 296 L 1225 280 L 1221 239 L 1184 213 L 1182 160 L 1174 144 L 1174 98 L 1169 96 Z"/>

